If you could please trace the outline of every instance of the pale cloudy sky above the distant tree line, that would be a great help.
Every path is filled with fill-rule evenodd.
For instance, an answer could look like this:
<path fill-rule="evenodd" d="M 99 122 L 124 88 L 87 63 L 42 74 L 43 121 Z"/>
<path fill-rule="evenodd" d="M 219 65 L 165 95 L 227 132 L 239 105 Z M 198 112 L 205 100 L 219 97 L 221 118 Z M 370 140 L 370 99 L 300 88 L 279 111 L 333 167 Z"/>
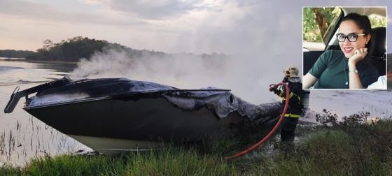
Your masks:
<path fill-rule="evenodd" d="M 302 6 L 387 6 L 388 1 L 353 2 L 0 0 L 0 50 L 35 51 L 45 39 L 58 43 L 83 36 L 169 53 L 300 57 Z"/>

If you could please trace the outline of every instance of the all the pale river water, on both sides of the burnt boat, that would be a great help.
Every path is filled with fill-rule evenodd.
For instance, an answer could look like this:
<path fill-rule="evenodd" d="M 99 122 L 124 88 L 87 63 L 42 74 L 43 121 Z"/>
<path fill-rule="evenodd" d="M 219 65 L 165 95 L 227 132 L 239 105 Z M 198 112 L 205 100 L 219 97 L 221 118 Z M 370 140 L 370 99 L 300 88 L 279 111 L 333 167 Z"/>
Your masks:
<path fill-rule="evenodd" d="M 15 87 L 20 90 L 41 85 L 69 74 L 76 68 L 74 63 L 39 63 L 23 59 L 0 58 L 0 109 L 6 107 L 10 95 Z M 200 78 L 203 77 L 203 78 Z M 146 75 L 133 76 L 134 80 L 147 80 L 164 83 L 182 89 L 195 89 L 214 85 L 218 79 L 211 75 L 175 75 L 172 77 L 146 77 Z M 200 87 L 187 87 L 193 80 L 203 80 Z M 230 87 L 223 87 L 228 88 Z M 248 89 L 249 87 L 244 87 Z M 267 91 L 267 89 L 266 89 Z M 246 91 L 244 91 L 246 92 Z M 270 94 L 270 93 L 267 93 Z M 252 95 L 237 94 L 237 96 L 252 97 Z M 323 109 L 336 113 L 339 117 L 353 115 L 363 111 L 370 112 L 370 117 L 391 118 L 392 91 L 371 90 L 312 90 L 309 110 L 303 121 L 316 122 L 315 114 L 322 113 Z M 247 101 L 246 98 L 244 98 Z M 25 166 L 37 156 L 56 156 L 58 154 L 90 152 L 92 149 L 80 144 L 76 140 L 59 133 L 50 126 L 32 117 L 22 110 L 24 98 L 10 114 L 0 112 L 0 166 L 10 163 L 13 166 Z M 279 98 L 276 97 L 276 101 Z M 270 102 L 265 102 L 270 103 Z"/>

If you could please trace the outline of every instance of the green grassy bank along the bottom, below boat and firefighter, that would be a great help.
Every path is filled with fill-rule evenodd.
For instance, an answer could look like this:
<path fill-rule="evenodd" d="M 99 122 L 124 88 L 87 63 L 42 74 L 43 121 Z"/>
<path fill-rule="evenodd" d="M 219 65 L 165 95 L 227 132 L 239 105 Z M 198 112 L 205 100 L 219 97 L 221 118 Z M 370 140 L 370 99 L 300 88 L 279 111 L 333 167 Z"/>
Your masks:
<path fill-rule="evenodd" d="M 219 140 L 162 145 L 120 156 L 62 155 L 25 167 L 1 166 L 0 175 L 392 175 L 392 117 L 369 112 L 343 117 L 324 111 L 321 125 L 297 126 L 297 140 L 271 138 L 255 152 L 225 161 L 270 129 Z"/>

